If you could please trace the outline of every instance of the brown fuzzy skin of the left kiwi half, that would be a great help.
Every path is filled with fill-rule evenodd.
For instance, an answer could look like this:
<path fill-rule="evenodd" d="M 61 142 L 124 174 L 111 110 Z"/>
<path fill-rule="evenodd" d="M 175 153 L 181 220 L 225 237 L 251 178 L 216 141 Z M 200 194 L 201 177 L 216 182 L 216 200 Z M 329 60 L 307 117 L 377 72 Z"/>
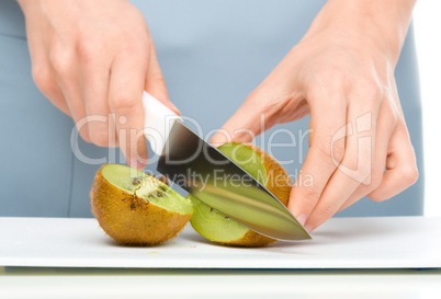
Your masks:
<path fill-rule="evenodd" d="M 115 241 L 127 245 L 155 245 L 174 238 L 190 220 L 191 214 L 168 211 L 117 188 L 104 179 L 101 170 L 90 192 L 92 212 Z"/>

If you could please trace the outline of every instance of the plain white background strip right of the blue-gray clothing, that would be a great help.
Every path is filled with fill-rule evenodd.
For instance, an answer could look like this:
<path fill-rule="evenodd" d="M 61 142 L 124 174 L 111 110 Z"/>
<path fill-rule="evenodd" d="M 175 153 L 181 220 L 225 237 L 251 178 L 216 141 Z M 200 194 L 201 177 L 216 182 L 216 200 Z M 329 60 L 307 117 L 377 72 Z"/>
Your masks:
<path fill-rule="evenodd" d="M 423 116 L 425 215 L 441 216 L 441 1 L 419 0 L 414 22 Z"/>

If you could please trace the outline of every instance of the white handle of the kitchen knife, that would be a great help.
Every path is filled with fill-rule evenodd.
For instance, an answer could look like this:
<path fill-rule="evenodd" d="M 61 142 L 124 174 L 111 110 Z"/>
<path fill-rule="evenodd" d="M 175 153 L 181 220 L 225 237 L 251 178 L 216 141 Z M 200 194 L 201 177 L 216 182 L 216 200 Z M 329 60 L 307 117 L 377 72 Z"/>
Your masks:
<path fill-rule="evenodd" d="M 161 154 L 167 138 L 177 119 L 182 118 L 151 94 L 144 92 L 144 135 L 156 154 Z"/>

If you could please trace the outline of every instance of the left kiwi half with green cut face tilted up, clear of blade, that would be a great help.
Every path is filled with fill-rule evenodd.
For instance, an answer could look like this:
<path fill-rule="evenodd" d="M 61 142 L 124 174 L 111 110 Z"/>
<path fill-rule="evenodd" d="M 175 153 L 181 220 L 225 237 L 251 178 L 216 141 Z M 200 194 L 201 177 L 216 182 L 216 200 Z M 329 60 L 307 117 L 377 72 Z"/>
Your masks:
<path fill-rule="evenodd" d="M 163 183 L 120 164 L 104 164 L 90 192 L 92 212 L 115 241 L 154 245 L 176 237 L 188 223 L 193 207 Z"/>

